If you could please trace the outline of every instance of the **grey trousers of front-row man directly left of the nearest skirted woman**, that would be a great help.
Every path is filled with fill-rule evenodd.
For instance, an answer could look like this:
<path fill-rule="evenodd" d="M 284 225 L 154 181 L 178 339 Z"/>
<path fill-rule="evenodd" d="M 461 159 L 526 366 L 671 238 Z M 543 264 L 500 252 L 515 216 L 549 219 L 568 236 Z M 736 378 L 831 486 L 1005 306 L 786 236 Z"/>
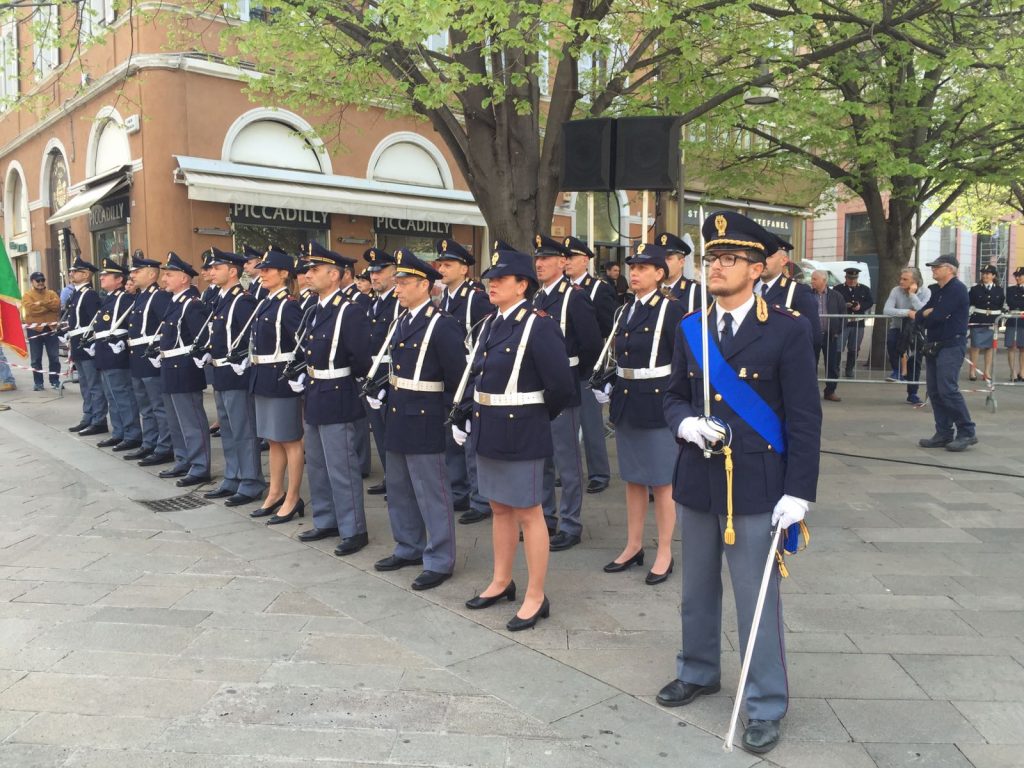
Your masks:
<path fill-rule="evenodd" d="M 443 454 L 387 455 L 387 514 L 394 554 L 423 558 L 436 573 L 455 569 L 455 511 Z"/>

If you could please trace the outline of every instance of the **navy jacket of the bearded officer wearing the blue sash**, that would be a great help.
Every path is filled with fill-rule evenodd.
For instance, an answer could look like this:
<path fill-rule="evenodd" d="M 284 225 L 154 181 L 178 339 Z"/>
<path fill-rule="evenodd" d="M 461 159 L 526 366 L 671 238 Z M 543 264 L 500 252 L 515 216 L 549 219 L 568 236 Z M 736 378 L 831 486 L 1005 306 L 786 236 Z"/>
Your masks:
<path fill-rule="evenodd" d="M 782 420 L 786 454 L 770 446 L 742 421 L 712 383 L 711 414 L 732 428 L 734 514 L 769 514 L 783 494 L 813 502 L 817 493 L 821 446 L 821 402 L 817 392 L 814 350 L 807 324 L 788 310 L 772 307 L 757 317 L 757 304 L 743 318 L 726 358 L 730 368 Z M 710 344 L 718 345 L 714 311 Z M 673 434 L 689 416 L 703 415 L 700 348 L 691 349 L 677 326 L 672 377 L 665 395 L 665 417 Z M 725 460 L 705 459 L 691 442 L 682 442 L 676 462 L 673 499 L 691 509 L 724 515 Z"/>

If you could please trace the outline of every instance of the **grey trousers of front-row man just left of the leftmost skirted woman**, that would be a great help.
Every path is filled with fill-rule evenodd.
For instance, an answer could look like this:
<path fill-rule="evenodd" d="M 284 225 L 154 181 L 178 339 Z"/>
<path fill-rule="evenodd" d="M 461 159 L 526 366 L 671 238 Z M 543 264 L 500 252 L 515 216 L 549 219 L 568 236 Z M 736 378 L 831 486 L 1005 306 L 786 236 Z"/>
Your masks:
<path fill-rule="evenodd" d="M 266 489 L 256 436 L 256 403 L 246 389 L 214 392 L 220 446 L 224 450 L 224 478 L 218 490 L 257 497 Z"/>

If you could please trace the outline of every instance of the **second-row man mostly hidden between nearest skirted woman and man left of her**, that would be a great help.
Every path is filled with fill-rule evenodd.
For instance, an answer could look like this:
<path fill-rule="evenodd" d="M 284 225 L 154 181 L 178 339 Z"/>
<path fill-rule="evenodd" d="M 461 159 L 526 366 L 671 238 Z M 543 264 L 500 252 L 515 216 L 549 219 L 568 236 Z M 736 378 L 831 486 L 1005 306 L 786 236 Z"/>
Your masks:
<path fill-rule="evenodd" d="M 466 248 L 444 238 L 434 244 L 437 258 L 434 266 L 441 275 L 444 290 L 441 292 L 440 308 L 458 321 L 465 339 L 466 356 L 473 347 L 484 317 L 494 313 L 495 307 L 487 300 L 487 295 L 469 280 L 469 267 L 476 259 Z M 490 506 L 487 500 L 480 496 L 476 483 L 476 459 L 472 456 L 472 445 L 459 445 L 452 438 L 449 430 L 444 458 L 447 462 L 449 477 L 452 479 L 452 494 L 455 497 L 455 510 L 462 512 L 459 522 L 463 524 L 479 522 L 490 516 Z"/>

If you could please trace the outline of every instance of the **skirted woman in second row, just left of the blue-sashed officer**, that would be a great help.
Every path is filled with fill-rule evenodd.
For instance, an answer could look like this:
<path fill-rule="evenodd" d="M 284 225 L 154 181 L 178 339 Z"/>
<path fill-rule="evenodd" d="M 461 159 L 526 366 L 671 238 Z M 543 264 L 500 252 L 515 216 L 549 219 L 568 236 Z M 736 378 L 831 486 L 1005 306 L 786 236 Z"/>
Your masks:
<path fill-rule="evenodd" d="M 663 296 L 659 284 L 669 276 L 666 250 L 639 244 L 626 259 L 630 265 L 630 289 L 636 296 L 615 325 L 615 383 L 611 390 L 609 417 L 615 425 L 618 474 L 626 481 L 626 548 L 604 566 L 617 573 L 631 565 L 643 565 L 643 528 L 647 517 L 647 488 L 654 493 L 657 523 L 657 555 L 645 580 L 660 584 L 672 572 L 672 531 L 676 505 L 672 501 L 672 477 L 676 465 L 676 441 L 665 422 L 662 399 L 672 373 L 675 329 L 682 319 L 683 305 Z M 607 391 L 594 396 L 607 402 Z"/>

